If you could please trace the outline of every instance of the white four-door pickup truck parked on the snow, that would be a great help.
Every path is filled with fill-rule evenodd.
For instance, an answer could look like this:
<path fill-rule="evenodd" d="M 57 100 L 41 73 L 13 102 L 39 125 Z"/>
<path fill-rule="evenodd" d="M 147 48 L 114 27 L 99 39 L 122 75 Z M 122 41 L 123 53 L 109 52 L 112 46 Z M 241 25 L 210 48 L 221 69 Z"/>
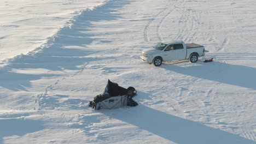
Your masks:
<path fill-rule="evenodd" d="M 205 47 L 199 44 L 185 44 L 183 41 L 170 41 L 158 43 L 153 48 L 142 51 L 141 60 L 160 66 L 165 61 L 189 59 L 195 63 L 198 57 L 205 55 Z"/>

